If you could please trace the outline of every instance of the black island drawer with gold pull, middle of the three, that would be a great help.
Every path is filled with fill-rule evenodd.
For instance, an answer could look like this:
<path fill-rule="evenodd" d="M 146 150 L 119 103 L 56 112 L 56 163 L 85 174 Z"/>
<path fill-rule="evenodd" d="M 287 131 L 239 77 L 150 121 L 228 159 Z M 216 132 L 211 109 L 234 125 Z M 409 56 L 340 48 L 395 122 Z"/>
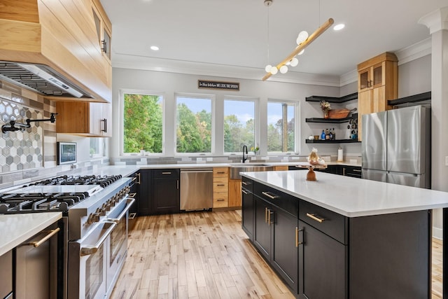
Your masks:
<path fill-rule="evenodd" d="M 283 211 L 286 211 L 295 217 L 298 216 L 299 199 L 297 197 L 293 197 L 257 182 L 253 183 L 253 194 L 274 204 L 276 207 L 283 209 Z"/>

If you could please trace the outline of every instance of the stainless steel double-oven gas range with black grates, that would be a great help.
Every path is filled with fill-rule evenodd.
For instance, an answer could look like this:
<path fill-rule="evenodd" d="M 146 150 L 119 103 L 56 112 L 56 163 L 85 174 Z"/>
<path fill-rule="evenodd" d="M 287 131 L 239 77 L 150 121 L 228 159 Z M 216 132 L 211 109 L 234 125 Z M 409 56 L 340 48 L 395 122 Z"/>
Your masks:
<path fill-rule="evenodd" d="M 50 265 L 57 268 L 52 298 L 109 298 L 127 256 L 130 182 L 121 176 L 57 176 L 0 194 L 0 214 L 62 212 L 57 257 L 50 258 L 57 259 Z"/>

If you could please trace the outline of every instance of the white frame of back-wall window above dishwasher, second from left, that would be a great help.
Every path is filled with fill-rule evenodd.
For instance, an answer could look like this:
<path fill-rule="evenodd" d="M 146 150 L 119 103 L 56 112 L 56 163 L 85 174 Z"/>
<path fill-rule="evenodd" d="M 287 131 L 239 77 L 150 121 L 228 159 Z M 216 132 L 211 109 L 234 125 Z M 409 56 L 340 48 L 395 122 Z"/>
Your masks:
<path fill-rule="evenodd" d="M 211 148 L 209 153 L 179 153 L 177 151 L 177 98 L 178 97 L 186 97 L 191 99 L 210 99 L 211 102 Z M 174 92 L 174 120 L 173 120 L 173 126 L 174 126 L 174 148 L 173 153 L 174 156 L 180 156 L 180 157 L 207 157 L 211 155 L 215 155 L 215 140 L 216 140 L 216 95 L 214 94 L 207 94 L 207 93 L 193 93 L 193 92 Z"/>

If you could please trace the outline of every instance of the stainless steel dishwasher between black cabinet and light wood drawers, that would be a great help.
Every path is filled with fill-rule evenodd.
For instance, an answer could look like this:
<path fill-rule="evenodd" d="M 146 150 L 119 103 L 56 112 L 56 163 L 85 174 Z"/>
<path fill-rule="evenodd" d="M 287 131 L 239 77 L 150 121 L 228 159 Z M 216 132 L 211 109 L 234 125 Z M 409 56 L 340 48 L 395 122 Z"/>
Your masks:
<path fill-rule="evenodd" d="M 213 169 L 181 169 L 181 210 L 198 211 L 213 206 Z"/>

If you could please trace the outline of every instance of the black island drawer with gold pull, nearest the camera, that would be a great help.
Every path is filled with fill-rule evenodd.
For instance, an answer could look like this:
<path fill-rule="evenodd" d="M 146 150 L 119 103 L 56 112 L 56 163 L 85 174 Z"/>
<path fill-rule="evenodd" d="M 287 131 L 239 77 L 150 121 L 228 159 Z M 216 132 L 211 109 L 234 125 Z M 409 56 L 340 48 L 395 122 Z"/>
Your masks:
<path fill-rule="evenodd" d="M 300 200 L 299 219 L 342 244 L 347 244 L 348 242 L 348 220 L 345 216 L 323 207 L 318 207 L 316 204 Z"/>

